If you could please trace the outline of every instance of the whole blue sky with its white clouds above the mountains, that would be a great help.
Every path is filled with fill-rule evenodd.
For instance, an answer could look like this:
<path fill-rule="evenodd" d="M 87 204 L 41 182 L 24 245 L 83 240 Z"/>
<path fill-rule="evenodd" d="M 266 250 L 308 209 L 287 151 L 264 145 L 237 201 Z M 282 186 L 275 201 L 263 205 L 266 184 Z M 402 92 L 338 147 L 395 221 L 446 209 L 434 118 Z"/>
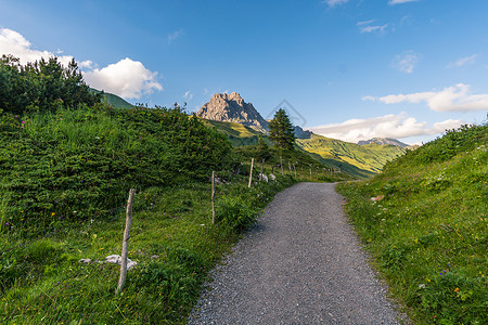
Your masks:
<path fill-rule="evenodd" d="M 0 53 L 75 57 L 131 103 L 239 92 L 356 142 L 426 142 L 488 112 L 488 1 L 0 0 Z"/>

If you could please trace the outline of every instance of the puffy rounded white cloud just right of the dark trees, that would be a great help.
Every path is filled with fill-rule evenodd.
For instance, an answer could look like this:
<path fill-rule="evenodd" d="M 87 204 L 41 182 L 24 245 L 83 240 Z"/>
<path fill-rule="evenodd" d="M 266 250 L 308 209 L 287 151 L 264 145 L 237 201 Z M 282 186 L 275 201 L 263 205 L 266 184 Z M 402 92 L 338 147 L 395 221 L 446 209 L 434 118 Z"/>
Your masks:
<path fill-rule="evenodd" d="M 93 88 L 118 94 L 125 99 L 139 99 L 153 90 L 163 90 L 157 82 L 157 73 L 129 57 L 101 69 L 85 73 L 85 80 Z"/>

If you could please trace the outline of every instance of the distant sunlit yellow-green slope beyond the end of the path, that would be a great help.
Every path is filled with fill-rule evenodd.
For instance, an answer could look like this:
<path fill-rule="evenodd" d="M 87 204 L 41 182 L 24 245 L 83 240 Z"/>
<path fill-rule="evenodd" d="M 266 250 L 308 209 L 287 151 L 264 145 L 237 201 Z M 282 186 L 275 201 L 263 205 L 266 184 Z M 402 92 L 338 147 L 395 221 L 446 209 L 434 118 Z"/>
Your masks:
<path fill-rule="evenodd" d="M 358 145 L 317 134 L 310 139 L 297 139 L 296 142 L 305 151 L 319 155 L 325 164 L 333 164 L 359 178 L 380 172 L 387 161 L 404 153 L 404 150 L 394 145 Z"/>

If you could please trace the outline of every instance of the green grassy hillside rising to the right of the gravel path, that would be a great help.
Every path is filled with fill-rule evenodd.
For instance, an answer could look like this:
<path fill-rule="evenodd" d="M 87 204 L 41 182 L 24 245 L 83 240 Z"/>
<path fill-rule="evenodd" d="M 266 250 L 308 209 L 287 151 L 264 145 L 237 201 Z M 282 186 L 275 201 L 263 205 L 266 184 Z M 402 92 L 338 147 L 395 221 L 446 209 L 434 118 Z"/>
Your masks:
<path fill-rule="evenodd" d="M 488 323 L 488 126 L 449 131 L 338 190 L 415 324 Z"/>

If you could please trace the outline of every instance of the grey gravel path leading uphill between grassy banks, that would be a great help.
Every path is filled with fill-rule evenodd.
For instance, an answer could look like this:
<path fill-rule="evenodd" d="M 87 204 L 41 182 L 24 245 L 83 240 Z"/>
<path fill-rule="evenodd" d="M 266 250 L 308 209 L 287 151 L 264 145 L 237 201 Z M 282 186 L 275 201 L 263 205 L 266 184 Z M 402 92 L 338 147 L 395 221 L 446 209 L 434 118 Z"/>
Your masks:
<path fill-rule="evenodd" d="M 334 184 L 278 194 L 213 272 L 189 324 L 400 324 Z"/>

